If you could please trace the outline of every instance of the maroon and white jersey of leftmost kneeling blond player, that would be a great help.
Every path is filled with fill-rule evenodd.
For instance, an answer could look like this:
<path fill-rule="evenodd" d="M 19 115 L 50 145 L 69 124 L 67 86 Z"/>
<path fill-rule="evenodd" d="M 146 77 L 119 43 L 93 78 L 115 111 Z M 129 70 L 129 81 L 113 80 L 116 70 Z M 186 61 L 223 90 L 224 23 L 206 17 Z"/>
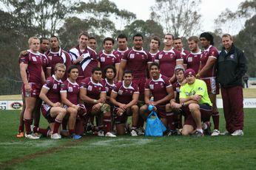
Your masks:
<path fill-rule="evenodd" d="M 49 77 L 43 85 L 43 88 L 48 90 L 47 98 L 50 99 L 51 102 L 61 102 L 61 79 L 58 80 L 55 78 L 55 75 Z"/>

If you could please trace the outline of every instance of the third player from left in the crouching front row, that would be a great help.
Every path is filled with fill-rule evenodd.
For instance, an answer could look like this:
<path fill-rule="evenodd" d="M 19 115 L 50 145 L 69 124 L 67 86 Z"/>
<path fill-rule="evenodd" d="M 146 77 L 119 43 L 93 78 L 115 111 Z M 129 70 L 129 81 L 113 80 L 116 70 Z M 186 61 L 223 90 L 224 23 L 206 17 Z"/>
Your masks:
<path fill-rule="evenodd" d="M 98 116 L 98 136 L 104 136 L 105 127 L 106 137 L 116 137 L 111 133 L 110 105 L 105 103 L 107 95 L 101 77 L 101 68 L 93 68 L 92 77 L 81 81 L 80 99 L 86 103 L 88 116 Z"/>

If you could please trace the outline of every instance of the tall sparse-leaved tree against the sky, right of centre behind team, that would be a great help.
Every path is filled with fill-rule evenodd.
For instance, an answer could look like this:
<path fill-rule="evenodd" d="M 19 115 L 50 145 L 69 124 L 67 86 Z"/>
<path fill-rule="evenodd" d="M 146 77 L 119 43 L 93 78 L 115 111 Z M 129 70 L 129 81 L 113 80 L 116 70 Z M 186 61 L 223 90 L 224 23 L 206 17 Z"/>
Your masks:
<path fill-rule="evenodd" d="M 175 37 L 188 37 L 200 29 L 198 13 L 201 0 L 155 0 L 151 18 L 160 21 L 166 32 Z"/>

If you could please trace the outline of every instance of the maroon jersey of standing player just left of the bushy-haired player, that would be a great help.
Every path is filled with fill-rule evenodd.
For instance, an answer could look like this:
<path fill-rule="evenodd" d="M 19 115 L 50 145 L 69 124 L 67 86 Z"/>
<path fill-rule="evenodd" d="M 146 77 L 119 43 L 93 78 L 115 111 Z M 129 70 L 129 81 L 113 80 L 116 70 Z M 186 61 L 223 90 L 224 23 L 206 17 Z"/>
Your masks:
<path fill-rule="evenodd" d="M 201 60 L 201 50 L 199 52 L 190 52 L 186 57 L 183 58 L 186 68 L 192 68 L 195 74 L 198 74 L 200 60 Z"/>

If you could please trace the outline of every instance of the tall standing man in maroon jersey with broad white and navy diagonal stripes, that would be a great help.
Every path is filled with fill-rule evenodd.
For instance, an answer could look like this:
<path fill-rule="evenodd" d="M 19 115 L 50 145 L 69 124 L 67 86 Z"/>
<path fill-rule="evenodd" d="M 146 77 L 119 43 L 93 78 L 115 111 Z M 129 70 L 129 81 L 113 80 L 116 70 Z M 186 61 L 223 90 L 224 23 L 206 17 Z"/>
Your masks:
<path fill-rule="evenodd" d="M 99 66 L 98 55 L 93 49 L 87 46 L 88 40 L 89 35 L 87 32 L 81 32 L 78 36 L 78 46 L 70 49 L 72 63 L 78 66 L 78 83 L 81 82 L 81 79 L 91 77 L 92 68 Z"/>

